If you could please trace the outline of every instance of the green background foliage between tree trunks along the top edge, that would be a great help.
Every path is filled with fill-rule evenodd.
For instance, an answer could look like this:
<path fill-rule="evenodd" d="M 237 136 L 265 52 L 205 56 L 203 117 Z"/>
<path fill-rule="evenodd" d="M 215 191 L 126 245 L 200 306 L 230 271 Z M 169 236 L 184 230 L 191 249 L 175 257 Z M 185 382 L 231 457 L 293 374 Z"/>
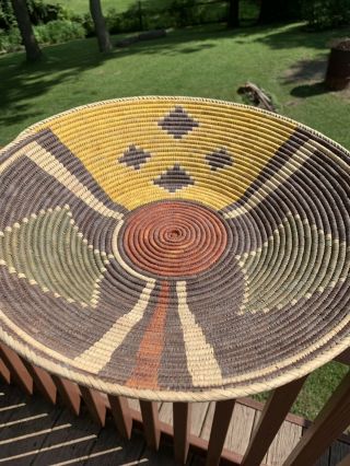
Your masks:
<path fill-rule="evenodd" d="M 258 21 L 260 2 L 261 0 L 240 1 L 243 25 Z M 35 35 L 40 44 L 57 44 L 95 34 L 88 13 L 88 0 L 60 0 L 58 3 L 27 0 L 27 4 Z M 224 23 L 229 11 L 226 0 L 104 0 L 103 7 L 112 34 Z M 350 0 L 300 0 L 292 2 L 288 11 L 291 21 L 304 20 L 311 30 L 350 24 Z M 19 48 L 21 37 L 11 0 L 0 0 L 0 53 Z"/>

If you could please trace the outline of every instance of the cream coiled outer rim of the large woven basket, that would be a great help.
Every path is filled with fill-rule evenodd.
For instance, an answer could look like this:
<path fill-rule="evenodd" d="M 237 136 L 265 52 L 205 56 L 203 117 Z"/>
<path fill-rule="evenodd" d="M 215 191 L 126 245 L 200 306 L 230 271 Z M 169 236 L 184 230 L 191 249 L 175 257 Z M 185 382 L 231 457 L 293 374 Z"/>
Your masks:
<path fill-rule="evenodd" d="M 48 118 L 39 120 L 28 126 L 23 131 L 21 131 L 20 135 L 12 142 L 10 142 L 4 148 L 2 148 L 2 150 L 0 150 L 0 155 L 7 150 L 9 150 L 10 148 L 15 147 L 20 141 L 31 136 L 33 132 L 35 132 L 36 128 L 43 127 L 45 124 L 48 124 L 55 119 L 65 117 L 67 115 L 71 115 L 73 113 L 79 113 L 80 110 L 83 110 L 86 108 L 93 108 L 93 107 L 103 106 L 103 105 L 110 105 L 114 103 L 117 104 L 117 103 L 124 103 L 124 102 L 128 103 L 128 102 L 136 102 L 136 101 L 144 101 L 144 102 L 168 101 L 168 102 L 176 102 L 176 103 L 191 102 L 191 103 L 215 104 L 215 105 L 222 105 L 222 106 L 229 106 L 229 107 L 243 108 L 248 112 L 252 112 L 253 114 L 254 113 L 260 114 L 260 115 L 268 116 L 270 118 L 272 117 L 273 119 L 278 119 L 281 121 L 288 121 L 289 124 L 295 125 L 296 128 L 305 129 L 312 135 L 317 136 L 320 140 L 330 143 L 335 148 L 340 149 L 349 158 L 349 161 L 347 162 L 350 165 L 350 152 L 346 148 L 343 148 L 341 144 L 334 141 L 332 139 L 326 137 L 322 132 L 304 124 L 300 124 L 299 121 L 290 117 L 285 117 L 285 116 L 282 116 L 269 110 L 265 110 L 258 107 L 253 107 L 249 105 L 234 103 L 230 101 L 208 98 L 208 97 L 167 96 L 167 95 L 144 95 L 144 96 L 135 96 L 135 97 L 112 98 L 112 100 L 94 102 L 94 103 L 90 103 L 85 105 L 80 105 L 78 107 L 73 107 L 71 109 L 58 113 Z M 3 313 L 0 308 L 0 319 L 3 319 L 1 314 Z M 350 322 L 350 316 L 348 316 L 348 322 Z M 30 362 L 34 363 L 35 365 L 39 368 L 47 370 L 49 373 L 69 378 L 80 385 L 89 386 L 106 394 L 122 395 L 130 398 L 145 399 L 151 401 L 188 401 L 188 403 L 237 398 L 237 397 L 254 395 L 264 391 L 278 388 L 279 386 L 282 386 L 289 382 L 292 382 L 294 380 L 298 380 L 302 376 L 307 375 L 308 373 L 320 368 L 326 362 L 329 362 L 335 357 L 337 357 L 342 351 L 345 351 L 348 347 L 350 347 L 350 335 L 349 335 L 342 338 L 341 341 L 337 342 L 337 345 L 332 346 L 329 349 L 326 349 L 320 354 L 316 356 L 315 358 L 313 358 L 311 361 L 306 363 L 302 362 L 302 357 L 300 357 L 300 353 L 299 353 L 296 358 L 300 358 L 300 359 L 295 360 L 295 364 L 300 366 L 292 368 L 285 373 L 273 375 L 272 378 L 270 380 L 266 380 L 264 382 L 258 382 L 258 383 L 247 383 L 246 385 L 240 385 L 237 387 L 228 387 L 228 388 L 218 387 L 218 388 L 210 388 L 210 389 L 203 388 L 201 392 L 194 392 L 189 389 L 189 391 L 182 392 L 182 391 L 167 391 L 167 389 L 150 391 L 150 389 L 131 388 L 125 385 L 115 384 L 108 381 L 107 377 L 101 377 L 98 375 L 89 373 L 88 371 L 84 371 L 82 369 L 77 371 L 74 369 L 74 365 L 70 365 L 69 363 L 65 363 L 63 361 L 57 362 L 56 360 L 49 359 L 48 356 L 45 356 L 45 357 L 42 356 L 39 353 L 40 351 L 37 351 L 33 346 L 30 346 L 28 343 L 24 342 L 24 340 L 22 340 L 20 335 L 16 335 L 16 337 L 13 338 L 1 326 L 0 326 L 0 340 L 4 342 L 5 345 L 8 345 L 10 348 L 12 348 L 14 351 L 16 351 L 19 354 L 27 359 Z M 322 348 L 322 342 L 315 342 L 314 345 L 316 346 L 316 348 Z M 307 351 L 311 347 L 308 347 L 305 351 Z M 283 361 L 280 361 L 280 363 L 276 362 L 275 368 L 278 369 L 279 366 L 282 366 Z"/>

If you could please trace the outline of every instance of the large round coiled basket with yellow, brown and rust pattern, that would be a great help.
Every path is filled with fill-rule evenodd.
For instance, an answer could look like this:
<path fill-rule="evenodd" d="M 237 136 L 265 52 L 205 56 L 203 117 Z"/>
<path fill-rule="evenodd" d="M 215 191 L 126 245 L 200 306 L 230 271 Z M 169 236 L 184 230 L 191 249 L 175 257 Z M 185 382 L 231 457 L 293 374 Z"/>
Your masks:
<path fill-rule="evenodd" d="M 226 102 L 101 102 L 0 152 L 0 340 L 152 400 L 240 397 L 349 346 L 349 153 Z"/>

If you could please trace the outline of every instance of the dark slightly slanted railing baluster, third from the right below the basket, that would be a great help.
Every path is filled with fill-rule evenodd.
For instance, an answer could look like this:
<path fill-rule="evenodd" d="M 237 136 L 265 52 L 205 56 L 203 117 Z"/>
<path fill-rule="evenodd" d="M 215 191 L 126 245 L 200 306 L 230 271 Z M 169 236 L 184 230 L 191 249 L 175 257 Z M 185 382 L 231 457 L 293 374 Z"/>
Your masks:
<path fill-rule="evenodd" d="M 217 466 L 220 462 L 234 405 L 234 399 L 215 403 L 215 410 L 208 444 L 207 466 Z"/>

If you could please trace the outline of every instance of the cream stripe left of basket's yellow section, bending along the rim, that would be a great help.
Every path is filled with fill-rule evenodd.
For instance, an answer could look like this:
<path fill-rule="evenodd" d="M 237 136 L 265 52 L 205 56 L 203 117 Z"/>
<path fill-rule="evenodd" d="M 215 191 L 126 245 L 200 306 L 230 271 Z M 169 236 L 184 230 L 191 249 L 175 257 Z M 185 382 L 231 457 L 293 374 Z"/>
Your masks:
<path fill-rule="evenodd" d="M 61 164 L 50 152 L 43 149 L 37 142 L 30 142 L 24 148 L 20 149 L 15 154 L 10 156 L 0 166 L 0 174 L 20 156 L 25 155 L 31 159 L 36 165 L 44 170 L 49 175 L 54 176 L 59 183 L 71 190 L 79 199 L 86 203 L 91 209 L 102 215 L 121 220 L 122 213 L 108 209 L 84 186 L 74 175 L 72 175 L 63 164 Z"/>

